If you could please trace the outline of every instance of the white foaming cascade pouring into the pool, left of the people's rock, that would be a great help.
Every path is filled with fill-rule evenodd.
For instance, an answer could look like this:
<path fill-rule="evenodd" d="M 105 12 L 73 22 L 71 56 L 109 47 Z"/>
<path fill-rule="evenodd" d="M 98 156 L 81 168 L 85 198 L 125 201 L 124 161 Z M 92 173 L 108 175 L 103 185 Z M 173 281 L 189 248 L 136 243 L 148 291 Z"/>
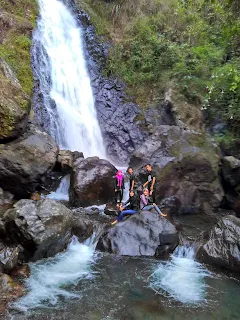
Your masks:
<path fill-rule="evenodd" d="M 92 278 L 95 262 L 96 234 L 84 244 L 73 237 L 68 249 L 56 255 L 30 264 L 31 275 L 25 285 L 28 293 L 15 302 L 14 309 L 27 311 L 36 307 L 56 305 L 60 297 L 76 298 L 79 293 L 68 290 L 81 279 Z"/>

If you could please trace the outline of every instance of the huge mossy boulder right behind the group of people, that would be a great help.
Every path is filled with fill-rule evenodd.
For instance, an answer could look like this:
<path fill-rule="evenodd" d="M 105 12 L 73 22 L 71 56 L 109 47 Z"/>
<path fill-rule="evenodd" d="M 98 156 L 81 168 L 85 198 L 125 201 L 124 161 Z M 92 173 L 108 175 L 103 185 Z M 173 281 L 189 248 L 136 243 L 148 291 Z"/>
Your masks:
<path fill-rule="evenodd" d="M 133 153 L 130 164 L 145 182 L 144 165 L 156 172 L 156 201 L 174 197 L 176 212 L 210 212 L 219 207 L 223 189 L 218 175 L 218 149 L 205 134 L 177 126 L 159 128 Z"/>

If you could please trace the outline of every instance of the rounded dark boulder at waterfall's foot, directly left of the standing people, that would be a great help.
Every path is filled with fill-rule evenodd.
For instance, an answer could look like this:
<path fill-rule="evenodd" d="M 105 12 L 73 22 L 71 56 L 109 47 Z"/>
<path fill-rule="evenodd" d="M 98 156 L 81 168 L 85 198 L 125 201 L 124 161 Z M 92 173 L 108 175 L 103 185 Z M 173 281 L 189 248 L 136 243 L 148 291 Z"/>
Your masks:
<path fill-rule="evenodd" d="M 114 197 L 114 175 L 117 169 L 98 157 L 77 159 L 70 183 L 70 202 L 90 206 L 111 202 Z"/>

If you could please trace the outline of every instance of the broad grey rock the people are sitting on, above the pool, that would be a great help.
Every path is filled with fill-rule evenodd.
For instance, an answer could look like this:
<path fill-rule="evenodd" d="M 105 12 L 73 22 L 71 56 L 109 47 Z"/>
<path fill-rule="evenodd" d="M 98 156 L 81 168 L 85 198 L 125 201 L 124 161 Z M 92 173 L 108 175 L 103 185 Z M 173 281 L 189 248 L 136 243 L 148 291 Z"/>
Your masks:
<path fill-rule="evenodd" d="M 109 229 L 97 249 L 127 256 L 154 256 L 162 249 L 165 256 L 166 246 L 173 251 L 177 245 L 178 233 L 172 223 L 155 212 L 142 211 Z"/>

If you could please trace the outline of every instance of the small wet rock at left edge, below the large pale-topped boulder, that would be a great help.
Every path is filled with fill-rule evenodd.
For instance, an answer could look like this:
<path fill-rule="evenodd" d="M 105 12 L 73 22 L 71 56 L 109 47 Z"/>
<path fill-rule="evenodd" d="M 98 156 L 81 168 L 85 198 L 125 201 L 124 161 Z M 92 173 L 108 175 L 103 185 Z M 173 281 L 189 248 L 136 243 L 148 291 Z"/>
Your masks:
<path fill-rule="evenodd" d="M 10 272 L 17 266 L 19 252 L 19 246 L 8 246 L 0 242 L 0 265 L 4 272 Z"/>

